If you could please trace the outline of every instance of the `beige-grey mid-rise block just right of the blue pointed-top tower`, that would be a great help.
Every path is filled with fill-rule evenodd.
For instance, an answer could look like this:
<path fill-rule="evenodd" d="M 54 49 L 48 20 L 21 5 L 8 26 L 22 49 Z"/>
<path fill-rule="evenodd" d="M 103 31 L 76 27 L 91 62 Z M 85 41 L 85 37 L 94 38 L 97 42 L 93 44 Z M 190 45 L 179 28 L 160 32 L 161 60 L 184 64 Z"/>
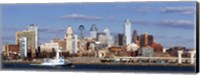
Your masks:
<path fill-rule="evenodd" d="M 100 48 L 106 48 L 108 45 L 106 33 L 97 33 L 96 41 L 100 43 Z"/>

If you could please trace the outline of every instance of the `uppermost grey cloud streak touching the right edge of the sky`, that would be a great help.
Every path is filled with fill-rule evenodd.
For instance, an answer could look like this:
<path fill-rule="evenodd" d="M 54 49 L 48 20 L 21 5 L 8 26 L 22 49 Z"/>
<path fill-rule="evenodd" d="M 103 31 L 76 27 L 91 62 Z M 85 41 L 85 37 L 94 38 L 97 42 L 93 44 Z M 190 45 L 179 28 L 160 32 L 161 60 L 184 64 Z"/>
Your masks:
<path fill-rule="evenodd" d="M 182 6 L 182 7 L 161 7 L 160 11 L 162 13 L 180 13 L 180 14 L 194 14 L 195 7 L 191 6 Z"/>

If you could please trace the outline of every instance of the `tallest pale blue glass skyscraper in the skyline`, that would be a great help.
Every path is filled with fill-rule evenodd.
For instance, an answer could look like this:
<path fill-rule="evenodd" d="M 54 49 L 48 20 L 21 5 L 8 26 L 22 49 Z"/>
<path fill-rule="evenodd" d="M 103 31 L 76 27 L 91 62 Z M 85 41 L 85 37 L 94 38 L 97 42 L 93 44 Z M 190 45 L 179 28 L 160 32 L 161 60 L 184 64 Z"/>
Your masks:
<path fill-rule="evenodd" d="M 131 44 L 131 28 L 132 24 L 130 19 L 126 19 L 124 23 L 124 34 L 126 36 L 126 45 Z"/>

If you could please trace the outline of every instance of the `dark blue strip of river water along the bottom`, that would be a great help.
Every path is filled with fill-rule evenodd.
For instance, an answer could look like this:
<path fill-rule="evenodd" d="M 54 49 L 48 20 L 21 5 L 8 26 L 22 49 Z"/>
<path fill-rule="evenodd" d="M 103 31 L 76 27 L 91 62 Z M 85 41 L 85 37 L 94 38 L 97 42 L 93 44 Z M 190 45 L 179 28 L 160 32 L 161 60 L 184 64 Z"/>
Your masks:
<path fill-rule="evenodd" d="M 74 64 L 72 66 L 35 66 L 30 64 L 4 63 L 4 70 L 35 71 L 107 71 L 107 72 L 173 72 L 194 73 L 194 66 L 161 66 L 161 65 L 108 65 L 108 64 Z"/>

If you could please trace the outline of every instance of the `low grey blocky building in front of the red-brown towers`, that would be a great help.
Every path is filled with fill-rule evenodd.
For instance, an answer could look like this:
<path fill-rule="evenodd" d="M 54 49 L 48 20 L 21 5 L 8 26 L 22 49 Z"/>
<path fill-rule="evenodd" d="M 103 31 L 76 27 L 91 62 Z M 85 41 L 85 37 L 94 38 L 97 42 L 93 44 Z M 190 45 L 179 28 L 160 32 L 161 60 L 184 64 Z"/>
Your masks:
<path fill-rule="evenodd" d="M 154 55 L 153 48 L 151 48 L 150 46 L 142 47 L 141 51 L 142 51 L 142 56 L 143 57 L 152 57 Z"/>

